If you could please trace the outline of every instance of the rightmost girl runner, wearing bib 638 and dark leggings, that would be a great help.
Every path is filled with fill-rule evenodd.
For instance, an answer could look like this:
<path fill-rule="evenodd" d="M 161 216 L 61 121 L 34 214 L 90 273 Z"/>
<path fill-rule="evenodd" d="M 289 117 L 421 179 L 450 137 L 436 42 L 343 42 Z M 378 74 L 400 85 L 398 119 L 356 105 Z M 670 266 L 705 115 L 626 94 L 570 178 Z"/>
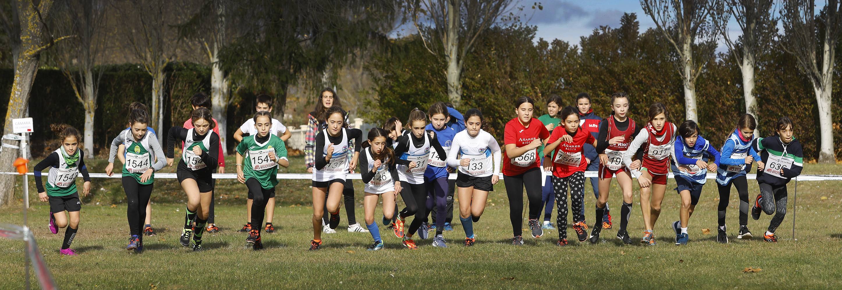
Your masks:
<path fill-rule="evenodd" d="M 801 143 L 793 136 L 792 120 L 787 117 L 778 119 L 775 135 L 752 141 L 752 147 L 760 154 L 757 183 L 760 194 L 754 199 L 751 208 L 752 219 L 760 219 L 760 210 L 766 214 L 775 214 L 769 222 L 763 240 L 776 243 L 778 236 L 775 229 L 786 216 L 786 183 L 801 175 L 803 153 Z"/>

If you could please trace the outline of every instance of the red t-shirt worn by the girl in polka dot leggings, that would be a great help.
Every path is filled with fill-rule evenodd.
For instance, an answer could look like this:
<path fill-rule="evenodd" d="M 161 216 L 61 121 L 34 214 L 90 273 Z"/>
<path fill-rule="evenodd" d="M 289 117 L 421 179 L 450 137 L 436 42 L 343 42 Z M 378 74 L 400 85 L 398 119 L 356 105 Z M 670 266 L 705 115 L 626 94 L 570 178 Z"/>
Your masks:
<path fill-rule="evenodd" d="M 567 135 L 567 129 L 553 130 L 547 144 L 555 142 L 563 135 Z M 594 135 L 579 127 L 573 135 L 573 142 L 562 142 L 552 151 L 552 176 L 569 177 L 573 173 L 585 171 L 588 168 L 588 161 L 584 156 L 584 145 L 593 145 L 596 141 Z"/>

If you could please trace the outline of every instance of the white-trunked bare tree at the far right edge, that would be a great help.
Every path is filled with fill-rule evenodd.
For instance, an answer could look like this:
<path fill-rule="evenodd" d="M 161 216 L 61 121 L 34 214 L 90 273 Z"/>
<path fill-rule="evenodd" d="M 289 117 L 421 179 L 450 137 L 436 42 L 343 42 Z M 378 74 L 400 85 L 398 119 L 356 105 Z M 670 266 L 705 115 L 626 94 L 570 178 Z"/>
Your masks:
<path fill-rule="evenodd" d="M 834 65 L 842 18 L 839 0 L 828 0 L 816 15 L 814 0 L 784 1 L 781 9 L 784 35 L 783 49 L 795 55 L 798 68 L 813 84 L 818 108 L 818 128 L 821 131 L 819 162 L 834 162 L 833 111 L 831 93 L 834 84 Z M 818 48 L 821 54 L 817 54 Z"/>

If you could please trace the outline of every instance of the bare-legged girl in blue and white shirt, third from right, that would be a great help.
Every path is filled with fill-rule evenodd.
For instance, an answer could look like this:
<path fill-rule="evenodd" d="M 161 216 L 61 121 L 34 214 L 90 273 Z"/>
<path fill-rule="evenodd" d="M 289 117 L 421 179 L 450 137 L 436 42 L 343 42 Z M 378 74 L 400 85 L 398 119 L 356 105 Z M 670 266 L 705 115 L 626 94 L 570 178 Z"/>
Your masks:
<path fill-rule="evenodd" d="M 699 135 L 699 125 L 693 120 L 686 120 L 679 126 L 679 135 L 675 137 L 675 191 L 681 197 L 679 219 L 673 223 L 675 245 L 687 245 L 687 224 L 693 215 L 696 203 L 699 203 L 701 187 L 707 182 L 707 171 L 715 171 L 719 166 L 719 151 Z M 707 159 L 703 161 L 702 158 Z M 676 170 L 677 169 L 677 170 Z"/>

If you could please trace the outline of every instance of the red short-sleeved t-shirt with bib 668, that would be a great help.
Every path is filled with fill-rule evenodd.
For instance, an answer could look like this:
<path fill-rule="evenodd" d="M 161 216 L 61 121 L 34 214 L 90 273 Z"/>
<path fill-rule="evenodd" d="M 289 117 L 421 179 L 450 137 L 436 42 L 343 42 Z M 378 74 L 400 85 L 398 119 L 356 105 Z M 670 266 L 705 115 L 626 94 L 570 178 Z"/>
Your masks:
<path fill-rule="evenodd" d="M 527 127 L 520 124 L 517 118 L 511 119 L 504 129 L 504 145 L 514 144 L 517 147 L 523 147 L 532 143 L 533 140 L 545 140 L 549 137 L 550 131 L 536 118 L 532 118 Z M 509 157 L 509 152 L 506 152 L 506 157 L 503 159 L 503 174 L 514 177 L 532 168 L 538 168 L 540 166 L 538 158 L 541 157 L 538 149 L 526 152 L 523 156 L 516 156 L 516 158 Z"/>

